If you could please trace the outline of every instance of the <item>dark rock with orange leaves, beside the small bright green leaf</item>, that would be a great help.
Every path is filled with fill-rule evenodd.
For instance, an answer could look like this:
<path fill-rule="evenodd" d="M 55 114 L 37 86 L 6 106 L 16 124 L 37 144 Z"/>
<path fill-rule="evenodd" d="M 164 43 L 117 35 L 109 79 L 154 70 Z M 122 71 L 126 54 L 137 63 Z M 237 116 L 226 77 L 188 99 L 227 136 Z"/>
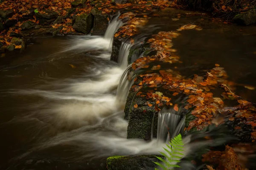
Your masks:
<path fill-rule="evenodd" d="M 35 14 L 40 24 L 52 23 L 58 17 L 58 13 L 55 11 L 44 10 L 44 12 L 45 13 L 43 14 L 40 14 L 40 13 Z"/>

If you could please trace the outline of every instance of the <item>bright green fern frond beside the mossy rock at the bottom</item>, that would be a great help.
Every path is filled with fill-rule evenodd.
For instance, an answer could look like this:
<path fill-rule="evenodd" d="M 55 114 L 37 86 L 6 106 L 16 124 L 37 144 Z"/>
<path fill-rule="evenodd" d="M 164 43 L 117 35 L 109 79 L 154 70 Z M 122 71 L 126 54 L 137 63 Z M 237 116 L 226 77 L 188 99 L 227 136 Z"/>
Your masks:
<path fill-rule="evenodd" d="M 163 170 L 172 170 L 172 167 L 180 167 L 177 164 L 174 163 L 178 163 L 180 162 L 180 159 L 183 158 L 183 141 L 182 141 L 182 137 L 180 134 L 178 134 L 177 136 L 175 136 L 174 139 L 171 140 L 171 142 L 169 142 L 169 144 L 166 144 L 166 146 L 168 147 L 168 149 L 164 148 L 163 149 L 166 151 L 166 153 L 160 152 L 166 159 L 163 159 L 161 157 L 157 157 L 157 159 L 159 159 L 160 161 L 162 161 L 163 163 L 159 163 L 159 162 L 154 162 L 155 164 L 157 164 L 159 167 L 161 167 Z M 155 168 L 155 170 L 158 170 L 157 168 Z"/>

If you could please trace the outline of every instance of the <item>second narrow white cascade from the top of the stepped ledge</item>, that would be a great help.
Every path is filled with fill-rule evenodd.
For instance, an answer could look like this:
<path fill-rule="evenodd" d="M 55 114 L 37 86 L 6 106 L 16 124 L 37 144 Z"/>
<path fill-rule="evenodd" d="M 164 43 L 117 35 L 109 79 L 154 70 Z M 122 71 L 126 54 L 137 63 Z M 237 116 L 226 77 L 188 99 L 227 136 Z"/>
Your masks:
<path fill-rule="evenodd" d="M 118 54 L 118 63 L 122 69 L 128 66 L 128 56 L 131 49 L 131 43 L 122 42 Z"/>

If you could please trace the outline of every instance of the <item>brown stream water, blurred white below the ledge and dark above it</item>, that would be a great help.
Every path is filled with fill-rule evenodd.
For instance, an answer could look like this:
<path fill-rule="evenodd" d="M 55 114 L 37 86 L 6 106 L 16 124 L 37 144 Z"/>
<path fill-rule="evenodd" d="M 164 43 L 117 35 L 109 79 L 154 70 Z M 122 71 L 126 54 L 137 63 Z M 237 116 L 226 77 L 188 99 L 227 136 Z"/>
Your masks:
<path fill-rule="evenodd" d="M 171 29 L 194 20 L 198 18 L 163 27 L 161 20 L 153 18 L 145 27 Z M 112 37 L 121 25 L 113 20 L 105 37 L 36 37 L 24 53 L 0 59 L 1 170 L 106 170 L 108 156 L 162 150 L 168 136 L 160 124 L 158 140 L 126 139 L 128 122 L 123 110 L 130 85 L 125 84 L 123 73 L 131 45 L 123 42 L 119 63 L 110 61 Z M 202 31 L 183 31 L 173 40 L 183 67 L 198 65 L 184 74 L 218 63 L 231 80 L 256 86 L 255 31 L 211 21 L 202 25 Z M 243 85 L 237 93 L 255 101 L 255 92 Z M 183 129 L 184 119 L 179 115 L 161 116 L 171 122 L 159 122 L 167 121 L 175 128 L 172 136 Z M 189 140 L 185 139 L 186 153 L 205 144 L 189 145 Z"/>

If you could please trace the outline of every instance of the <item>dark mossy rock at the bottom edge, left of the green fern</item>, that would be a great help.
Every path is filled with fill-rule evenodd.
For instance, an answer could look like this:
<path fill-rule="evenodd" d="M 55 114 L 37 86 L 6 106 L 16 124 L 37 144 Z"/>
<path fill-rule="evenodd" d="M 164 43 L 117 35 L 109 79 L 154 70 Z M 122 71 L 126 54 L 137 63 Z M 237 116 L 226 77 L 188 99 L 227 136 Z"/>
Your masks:
<path fill-rule="evenodd" d="M 160 156 L 163 158 L 163 156 Z M 111 156 L 107 159 L 108 170 L 154 170 L 160 162 L 154 155 Z"/>

